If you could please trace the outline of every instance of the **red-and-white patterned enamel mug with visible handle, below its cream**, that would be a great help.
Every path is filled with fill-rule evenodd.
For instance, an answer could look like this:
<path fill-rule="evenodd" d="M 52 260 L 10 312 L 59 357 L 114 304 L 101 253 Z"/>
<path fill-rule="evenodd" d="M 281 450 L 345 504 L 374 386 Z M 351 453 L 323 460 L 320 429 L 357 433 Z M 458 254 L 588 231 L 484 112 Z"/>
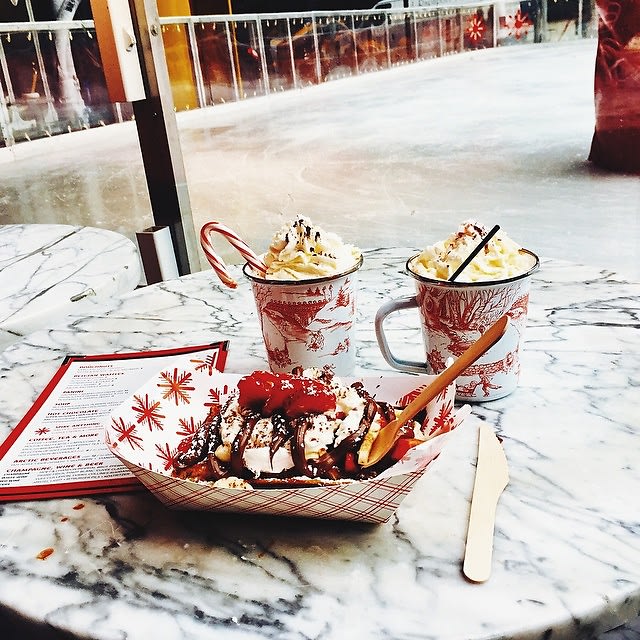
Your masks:
<path fill-rule="evenodd" d="M 523 250 L 524 251 L 524 250 Z M 456 399 L 483 402 L 502 398 L 516 389 L 520 375 L 520 349 L 527 324 L 531 276 L 540 260 L 531 251 L 531 268 L 521 275 L 490 282 L 448 282 L 425 278 L 411 270 L 416 295 L 390 300 L 376 313 L 375 332 L 380 351 L 395 369 L 417 373 L 440 373 L 448 358 L 457 358 L 472 342 L 505 313 L 511 322 L 502 338 L 456 380 Z M 387 340 L 384 322 L 403 309 L 420 312 L 426 361 L 396 357 Z"/>

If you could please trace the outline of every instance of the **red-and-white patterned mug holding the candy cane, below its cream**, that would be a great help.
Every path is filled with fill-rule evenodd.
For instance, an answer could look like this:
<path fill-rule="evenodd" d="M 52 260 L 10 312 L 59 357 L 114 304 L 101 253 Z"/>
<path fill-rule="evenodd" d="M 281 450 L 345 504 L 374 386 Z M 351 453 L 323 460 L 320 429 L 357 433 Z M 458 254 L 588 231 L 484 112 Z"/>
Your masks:
<path fill-rule="evenodd" d="M 264 278 L 250 265 L 251 280 L 271 371 L 318 367 L 350 375 L 356 362 L 355 317 L 358 269 L 308 280 Z"/>

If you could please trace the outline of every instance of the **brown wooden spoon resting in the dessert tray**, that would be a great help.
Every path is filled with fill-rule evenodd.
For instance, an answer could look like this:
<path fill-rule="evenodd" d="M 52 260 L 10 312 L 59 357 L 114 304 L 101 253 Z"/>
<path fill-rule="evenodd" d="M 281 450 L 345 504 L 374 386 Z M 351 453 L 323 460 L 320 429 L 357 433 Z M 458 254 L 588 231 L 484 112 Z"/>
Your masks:
<path fill-rule="evenodd" d="M 473 364 L 481 355 L 488 351 L 509 326 L 509 316 L 502 316 L 492 324 L 462 355 L 440 373 L 423 391 L 420 392 L 395 419 L 385 425 L 371 445 L 369 458 L 362 464 L 370 467 L 379 462 L 393 449 L 398 439 L 400 429 L 433 400 L 443 389 L 448 387 L 469 365 Z"/>

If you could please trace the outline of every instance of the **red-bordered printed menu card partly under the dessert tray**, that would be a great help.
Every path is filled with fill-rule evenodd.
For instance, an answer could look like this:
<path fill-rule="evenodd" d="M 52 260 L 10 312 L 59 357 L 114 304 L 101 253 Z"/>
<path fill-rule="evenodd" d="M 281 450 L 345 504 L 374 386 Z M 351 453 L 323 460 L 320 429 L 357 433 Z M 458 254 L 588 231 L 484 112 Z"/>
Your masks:
<path fill-rule="evenodd" d="M 197 362 L 224 371 L 229 343 L 140 353 L 67 356 L 0 445 L 0 502 L 141 487 L 109 451 L 104 425 L 160 369 Z"/>

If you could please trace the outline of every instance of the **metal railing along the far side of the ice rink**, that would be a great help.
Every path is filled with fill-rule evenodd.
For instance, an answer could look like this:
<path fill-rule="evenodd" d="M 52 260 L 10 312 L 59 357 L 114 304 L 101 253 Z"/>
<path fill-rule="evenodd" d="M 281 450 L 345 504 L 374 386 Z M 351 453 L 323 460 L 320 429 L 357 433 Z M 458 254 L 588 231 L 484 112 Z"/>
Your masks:
<path fill-rule="evenodd" d="M 429 6 L 161 18 L 176 110 L 464 51 L 596 36 L 593 0 L 423 1 Z M 109 101 L 93 21 L 0 24 L 0 146 L 132 115 L 130 104 Z"/>

